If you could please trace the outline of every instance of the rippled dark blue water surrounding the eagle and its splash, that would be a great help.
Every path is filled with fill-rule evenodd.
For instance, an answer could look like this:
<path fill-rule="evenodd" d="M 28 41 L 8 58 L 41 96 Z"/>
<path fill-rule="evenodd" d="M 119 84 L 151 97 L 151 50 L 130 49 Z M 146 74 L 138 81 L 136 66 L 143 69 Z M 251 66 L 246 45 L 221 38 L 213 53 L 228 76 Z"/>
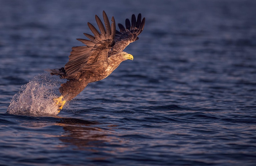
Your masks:
<path fill-rule="evenodd" d="M 0 165 L 256 164 L 256 1 L 0 4 Z M 125 49 L 134 60 L 57 116 L 40 114 L 49 106 L 33 88 L 60 81 L 44 69 L 62 67 L 103 10 L 123 24 L 146 17 Z M 18 105 L 6 114 L 25 84 L 31 93 L 23 99 L 33 94 L 38 116 Z"/>

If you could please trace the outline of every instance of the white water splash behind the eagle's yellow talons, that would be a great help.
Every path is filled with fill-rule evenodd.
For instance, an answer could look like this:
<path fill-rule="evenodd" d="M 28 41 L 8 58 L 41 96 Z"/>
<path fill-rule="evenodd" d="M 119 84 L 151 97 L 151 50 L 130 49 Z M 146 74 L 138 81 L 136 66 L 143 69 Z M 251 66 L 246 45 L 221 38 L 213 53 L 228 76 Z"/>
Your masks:
<path fill-rule="evenodd" d="M 58 106 L 52 99 L 60 96 L 60 81 L 49 73 L 34 77 L 11 99 L 7 113 L 27 116 L 57 115 Z"/>

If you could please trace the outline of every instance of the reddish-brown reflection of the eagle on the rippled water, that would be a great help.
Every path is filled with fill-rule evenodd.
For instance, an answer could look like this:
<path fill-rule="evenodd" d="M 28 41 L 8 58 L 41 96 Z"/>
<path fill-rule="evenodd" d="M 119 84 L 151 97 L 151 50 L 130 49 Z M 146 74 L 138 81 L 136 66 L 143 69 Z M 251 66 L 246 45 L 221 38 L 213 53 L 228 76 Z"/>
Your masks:
<path fill-rule="evenodd" d="M 62 118 L 56 123 L 62 126 L 64 133 L 60 135 L 59 140 L 65 146 L 72 146 L 72 149 L 90 153 L 85 158 L 92 161 L 108 161 L 113 155 L 129 151 L 129 148 L 123 147 L 124 139 L 118 138 L 114 131 L 116 125 L 102 125 L 98 122 L 91 122 L 75 118 Z M 91 154 L 101 154 L 93 155 Z M 105 155 L 102 155 L 105 154 Z"/>

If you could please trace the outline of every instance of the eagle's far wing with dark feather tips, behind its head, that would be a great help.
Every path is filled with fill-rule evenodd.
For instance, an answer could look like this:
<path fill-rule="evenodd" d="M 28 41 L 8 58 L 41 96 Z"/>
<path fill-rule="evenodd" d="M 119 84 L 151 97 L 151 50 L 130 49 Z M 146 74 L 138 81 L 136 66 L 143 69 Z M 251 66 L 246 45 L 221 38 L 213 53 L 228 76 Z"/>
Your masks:
<path fill-rule="evenodd" d="M 131 22 L 129 19 L 125 20 L 125 27 L 122 24 L 118 24 L 120 31 L 116 30 L 115 45 L 109 55 L 121 52 L 130 43 L 138 40 L 138 35 L 142 32 L 145 25 L 145 17 L 141 20 L 141 14 L 138 14 L 137 21 L 136 16 L 133 14 Z"/>

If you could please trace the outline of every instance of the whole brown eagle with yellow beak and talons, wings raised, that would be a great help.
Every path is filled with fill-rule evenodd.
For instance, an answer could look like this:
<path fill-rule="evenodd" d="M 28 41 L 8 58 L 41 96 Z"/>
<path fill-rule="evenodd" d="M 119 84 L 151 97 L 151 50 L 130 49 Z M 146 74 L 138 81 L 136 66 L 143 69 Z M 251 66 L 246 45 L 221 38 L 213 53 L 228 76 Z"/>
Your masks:
<path fill-rule="evenodd" d="M 106 78 L 122 61 L 127 59 L 133 60 L 133 56 L 123 52 L 123 50 L 131 42 L 138 40 L 137 36 L 144 28 L 145 18 L 141 20 L 141 14 L 139 14 L 136 21 L 136 17 L 133 14 L 131 22 L 129 19 L 126 19 L 126 27 L 118 24 L 120 31 L 116 30 L 114 17 L 111 19 L 112 23 L 110 26 L 104 11 L 103 20 L 105 27 L 97 15 L 95 15 L 95 19 L 100 31 L 88 23 L 88 27 L 94 36 L 84 33 L 89 40 L 77 39 L 85 44 L 85 46 L 72 48 L 69 61 L 65 67 L 48 70 L 52 75 L 68 79 L 59 88 L 62 96 L 57 98 L 57 104 L 59 104 L 58 102 L 72 100 L 88 83 Z M 63 106 L 64 104 L 61 105 Z"/>

